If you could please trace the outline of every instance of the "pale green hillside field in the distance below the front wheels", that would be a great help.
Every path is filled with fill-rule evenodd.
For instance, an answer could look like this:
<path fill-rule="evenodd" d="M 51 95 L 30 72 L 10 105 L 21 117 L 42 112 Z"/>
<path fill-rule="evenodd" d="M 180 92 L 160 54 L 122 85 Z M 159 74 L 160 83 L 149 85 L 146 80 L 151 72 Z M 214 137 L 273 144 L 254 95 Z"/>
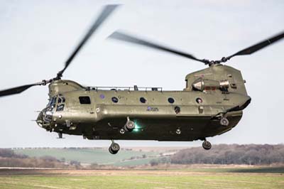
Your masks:
<path fill-rule="evenodd" d="M 131 161 L 126 161 L 131 157 L 142 157 L 146 155 L 147 157 L 157 156 L 158 152 L 151 151 L 130 151 L 121 149 L 119 153 L 113 155 L 109 153 L 106 148 L 24 148 L 13 150 L 18 154 L 25 154 L 30 157 L 42 157 L 42 156 L 53 156 L 59 160 L 65 158 L 65 161 L 80 161 L 80 163 L 97 163 L 97 164 L 108 164 L 108 165 L 141 165 L 149 163 L 152 158 L 143 159 L 143 161 L 138 161 L 133 159 Z M 139 164 L 140 163 L 140 164 Z"/>

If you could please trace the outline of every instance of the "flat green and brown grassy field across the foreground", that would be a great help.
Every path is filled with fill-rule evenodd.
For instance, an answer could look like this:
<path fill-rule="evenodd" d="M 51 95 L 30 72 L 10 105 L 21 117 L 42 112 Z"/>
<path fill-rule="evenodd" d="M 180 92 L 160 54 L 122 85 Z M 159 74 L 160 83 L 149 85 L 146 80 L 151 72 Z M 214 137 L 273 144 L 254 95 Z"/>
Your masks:
<path fill-rule="evenodd" d="M 284 188 L 284 168 L 0 169 L 0 188 Z"/>

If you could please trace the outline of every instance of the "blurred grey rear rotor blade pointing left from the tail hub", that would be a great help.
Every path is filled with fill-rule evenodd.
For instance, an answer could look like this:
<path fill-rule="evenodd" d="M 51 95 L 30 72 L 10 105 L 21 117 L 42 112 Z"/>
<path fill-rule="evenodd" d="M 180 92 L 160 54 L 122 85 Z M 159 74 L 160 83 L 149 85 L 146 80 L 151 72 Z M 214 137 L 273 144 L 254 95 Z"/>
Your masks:
<path fill-rule="evenodd" d="M 114 38 L 116 40 L 126 41 L 126 42 L 129 42 L 129 43 L 135 43 L 135 44 L 138 44 L 138 45 L 143 45 L 143 46 L 155 48 L 155 49 L 158 49 L 158 50 L 163 50 L 165 52 L 174 53 L 175 55 L 183 56 L 185 58 L 190 58 L 192 60 L 197 60 L 197 61 L 200 61 L 202 63 L 207 63 L 207 60 L 201 60 L 201 59 L 195 58 L 193 55 L 190 55 L 188 53 L 183 53 L 179 50 L 174 50 L 173 48 L 168 48 L 168 47 L 165 47 L 163 45 L 158 45 L 156 43 L 145 41 L 141 38 L 136 38 L 136 37 L 130 36 L 128 34 L 121 33 L 119 31 L 115 31 L 114 33 L 112 33 L 111 36 L 109 36 L 109 38 Z"/>

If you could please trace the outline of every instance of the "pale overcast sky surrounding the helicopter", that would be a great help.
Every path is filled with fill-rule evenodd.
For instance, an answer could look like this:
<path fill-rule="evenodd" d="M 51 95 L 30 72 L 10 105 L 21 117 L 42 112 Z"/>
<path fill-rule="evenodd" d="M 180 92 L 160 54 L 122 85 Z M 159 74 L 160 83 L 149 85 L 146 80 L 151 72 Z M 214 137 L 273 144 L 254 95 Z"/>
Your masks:
<path fill-rule="evenodd" d="M 99 28 L 63 79 L 88 86 L 157 86 L 182 90 L 202 63 L 106 40 L 122 29 L 136 36 L 219 59 L 284 31 L 284 1 L 10 1 L 0 0 L 0 90 L 55 77 L 105 4 L 123 4 Z M 239 124 L 214 144 L 284 141 L 284 41 L 227 64 L 241 70 L 252 98 Z M 108 146 L 82 136 L 56 139 L 35 121 L 48 87 L 0 98 L 0 147 Z M 119 141 L 123 146 L 199 146 L 197 142 Z"/>

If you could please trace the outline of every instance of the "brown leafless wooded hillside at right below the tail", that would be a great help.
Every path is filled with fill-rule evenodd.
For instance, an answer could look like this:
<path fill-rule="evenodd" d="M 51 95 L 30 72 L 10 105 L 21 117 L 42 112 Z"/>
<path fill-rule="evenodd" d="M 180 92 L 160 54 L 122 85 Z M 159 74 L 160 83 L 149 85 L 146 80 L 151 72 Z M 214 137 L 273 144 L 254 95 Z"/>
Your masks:
<path fill-rule="evenodd" d="M 284 145 L 269 144 L 219 144 L 207 151 L 202 147 L 187 148 L 170 157 L 171 163 L 178 164 L 248 164 L 269 165 L 284 163 Z"/>

